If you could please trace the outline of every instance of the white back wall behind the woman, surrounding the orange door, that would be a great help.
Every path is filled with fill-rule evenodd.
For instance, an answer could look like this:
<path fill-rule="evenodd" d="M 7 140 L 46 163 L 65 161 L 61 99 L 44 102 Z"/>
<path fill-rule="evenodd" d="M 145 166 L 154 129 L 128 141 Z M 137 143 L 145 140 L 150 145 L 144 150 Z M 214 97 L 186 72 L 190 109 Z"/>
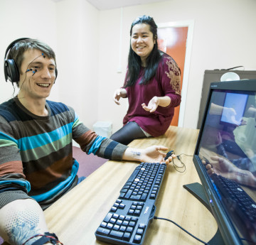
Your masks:
<path fill-rule="evenodd" d="M 156 23 L 194 20 L 191 67 L 183 126 L 196 129 L 205 70 L 243 65 L 256 70 L 255 0 L 171 0 L 123 9 L 122 73 L 119 62 L 119 23 L 121 9 L 100 12 L 100 80 L 98 119 L 122 126 L 126 104 L 112 102 L 114 89 L 124 81 L 129 51 L 129 28 L 137 16 L 147 14 Z M 107 60 L 107 62 L 105 62 Z"/>

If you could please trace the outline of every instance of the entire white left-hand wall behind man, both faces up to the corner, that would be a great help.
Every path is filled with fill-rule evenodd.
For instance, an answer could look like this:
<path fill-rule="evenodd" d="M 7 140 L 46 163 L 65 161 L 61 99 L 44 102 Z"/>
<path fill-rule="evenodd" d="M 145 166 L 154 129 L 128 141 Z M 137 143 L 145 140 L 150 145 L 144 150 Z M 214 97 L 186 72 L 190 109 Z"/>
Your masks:
<path fill-rule="evenodd" d="M 1 0 L 0 67 L 13 40 L 38 38 L 56 53 L 58 78 L 48 99 L 73 107 L 87 126 L 97 121 L 98 14 L 85 0 Z M 58 45 L 57 45 L 58 43 Z M 13 97 L 0 69 L 0 102 Z M 18 89 L 16 89 L 16 92 Z"/>

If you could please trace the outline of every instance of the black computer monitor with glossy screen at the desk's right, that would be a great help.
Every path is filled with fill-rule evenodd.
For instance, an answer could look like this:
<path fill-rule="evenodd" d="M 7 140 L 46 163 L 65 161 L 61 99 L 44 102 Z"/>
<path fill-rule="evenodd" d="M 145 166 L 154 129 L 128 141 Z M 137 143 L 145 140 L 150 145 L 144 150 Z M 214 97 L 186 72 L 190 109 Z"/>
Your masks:
<path fill-rule="evenodd" d="M 193 163 L 225 244 L 256 244 L 256 80 L 213 82 Z M 238 212 L 216 176 L 235 180 L 250 200 L 252 214 Z"/>

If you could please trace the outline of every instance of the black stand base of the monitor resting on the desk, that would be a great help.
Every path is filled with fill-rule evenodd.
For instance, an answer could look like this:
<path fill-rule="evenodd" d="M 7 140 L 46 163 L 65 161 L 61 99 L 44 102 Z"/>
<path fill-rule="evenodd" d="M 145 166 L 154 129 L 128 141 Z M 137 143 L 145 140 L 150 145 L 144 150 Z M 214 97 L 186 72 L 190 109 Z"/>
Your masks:
<path fill-rule="evenodd" d="M 188 192 L 191 192 L 191 194 L 196 197 L 212 214 L 213 212 L 210 209 L 210 205 L 208 204 L 208 201 L 206 199 L 206 194 L 203 191 L 203 186 L 199 183 L 192 183 L 188 185 L 183 185 L 183 187 L 188 190 Z M 225 245 L 223 238 L 220 234 L 220 230 L 218 229 L 216 234 L 213 236 L 210 241 L 208 241 L 208 244 L 210 245 Z"/>

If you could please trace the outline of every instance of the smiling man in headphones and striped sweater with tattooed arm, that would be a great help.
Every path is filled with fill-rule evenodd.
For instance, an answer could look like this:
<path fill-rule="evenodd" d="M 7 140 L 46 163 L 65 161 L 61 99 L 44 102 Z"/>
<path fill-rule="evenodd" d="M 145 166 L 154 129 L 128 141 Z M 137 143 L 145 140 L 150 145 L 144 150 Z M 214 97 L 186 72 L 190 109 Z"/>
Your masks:
<path fill-rule="evenodd" d="M 73 108 L 46 100 L 57 74 L 55 53 L 39 40 L 20 38 L 6 49 L 4 75 L 19 88 L 0 104 L 0 236 L 9 244 L 61 244 L 48 233 L 43 209 L 78 184 L 73 139 L 85 153 L 112 160 L 166 156 L 164 146 L 129 148 L 98 136 Z"/>

